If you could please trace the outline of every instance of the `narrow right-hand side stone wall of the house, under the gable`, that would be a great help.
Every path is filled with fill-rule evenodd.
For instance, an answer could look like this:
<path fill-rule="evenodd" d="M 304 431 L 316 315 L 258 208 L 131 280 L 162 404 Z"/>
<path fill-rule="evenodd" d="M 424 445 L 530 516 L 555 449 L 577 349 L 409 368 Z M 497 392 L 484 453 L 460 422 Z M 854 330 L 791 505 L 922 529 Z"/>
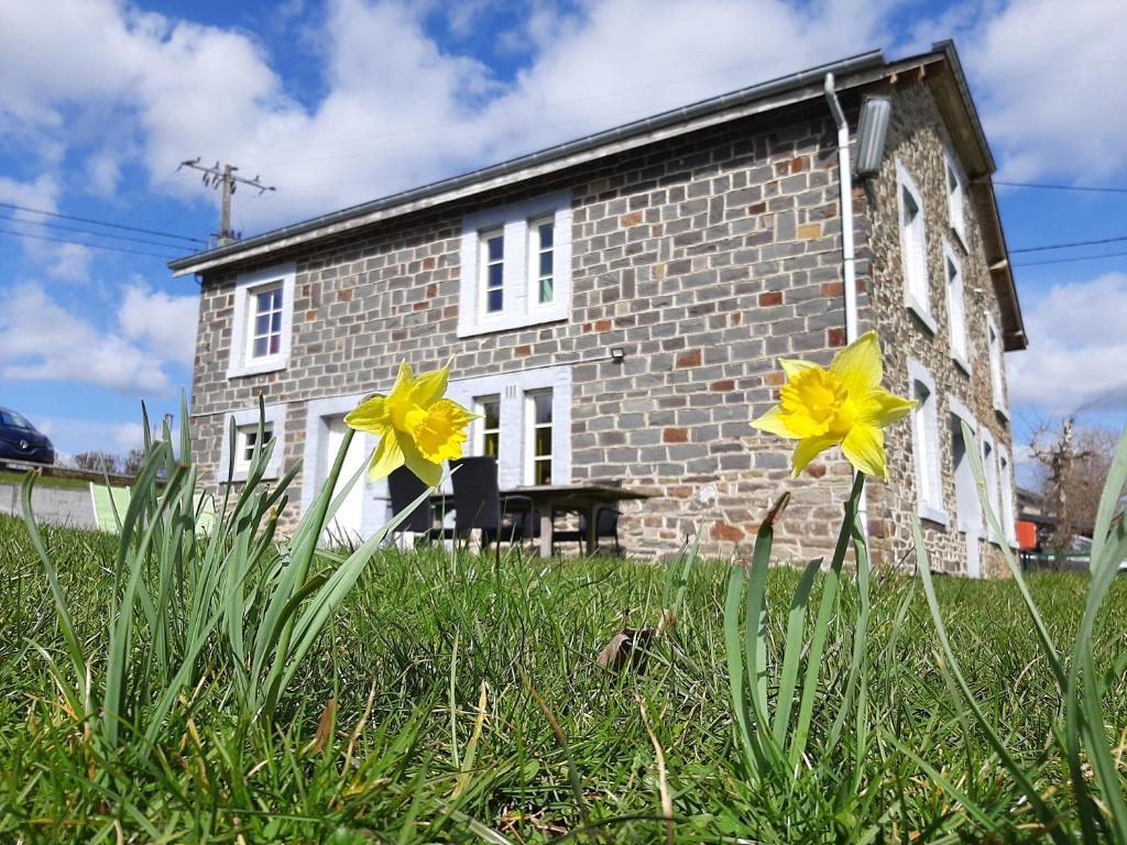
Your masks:
<path fill-rule="evenodd" d="M 999 303 L 986 269 L 979 221 L 969 193 L 965 199 L 967 243 L 951 232 L 946 192 L 943 150 L 955 150 L 935 107 L 930 88 L 911 81 L 893 91 L 893 122 L 879 177 L 859 192 L 866 208 L 860 251 L 871 260 L 872 301 L 862 311 L 863 328 L 876 328 L 884 343 L 885 381 L 905 394 L 907 358 L 919 359 L 935 381 L 939 399 L 939 439 L 943 507 L 947 526 L 923 521 L 924 540 L 935 569 L 966 571 L 964 535 L 956 527 L 956 492 L 952 472 L 951 398 L 958 399 L 986 427 L 997 446 L 1011 456 L 1010 425 L 994 410 L 987 353 L 986 312 L 1001 324 Z M 911 172 L 924 201 L 928 276 L 931 312 L 938 324 L 932 333 L 904 304 L 900 263 L 896 161 Z M 968 188 L 969 192 L 969 188 Z M 970 373 L 951 357 L 943 239 L 961 259 Z M 869 491 L 869 531 L 876 558 L 898 561 L 912 546 L 911 517 L 916 512 L 912 429 L 908 421 L 886 433 L 890 483 L 872 484 Z M 1011 463 L 1012 466 L 1012 463 Z M 1001 516 L 1000 516 L 1001 518 Z M 1005 571 L 997 545 L 979 541 L 984 575 Z"/>

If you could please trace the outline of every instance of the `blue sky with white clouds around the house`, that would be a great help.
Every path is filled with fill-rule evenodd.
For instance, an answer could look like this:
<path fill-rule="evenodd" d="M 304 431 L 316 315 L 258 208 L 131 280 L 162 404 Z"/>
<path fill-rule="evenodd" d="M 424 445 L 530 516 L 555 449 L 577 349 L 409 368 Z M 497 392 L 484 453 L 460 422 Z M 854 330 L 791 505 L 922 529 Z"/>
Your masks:
<path fill-rule="evenodd" d="M 165 259 L 215 231 L 201 155 L 278 190 L 249 234 L 781 73 L 953 37 L 999 179 L 1127 188 L 1121 0 L 0 0 L 0 404 L 64 452 L 140 442 L 190 386 L 196 285 Z M 1127 235 L 1127 193 L 1000 188 L 1012 249 Z M 44 226 L 42 223 L 52 223 Z M 90 246 L 60 243 L 50 238 Z M 1127 420 L 1127 241 L 1014 252 L 1031 338 L 1017 439 Z"/>

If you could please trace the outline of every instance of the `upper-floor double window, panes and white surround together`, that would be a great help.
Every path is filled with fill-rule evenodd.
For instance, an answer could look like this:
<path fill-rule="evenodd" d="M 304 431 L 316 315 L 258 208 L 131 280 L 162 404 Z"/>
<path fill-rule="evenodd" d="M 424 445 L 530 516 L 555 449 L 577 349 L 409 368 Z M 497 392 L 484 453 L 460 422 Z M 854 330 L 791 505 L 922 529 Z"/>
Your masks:
<path fill-rule="evenodd" d="M 460 259 L 459 337 L 567 320 L 570 192 L 468 214 Z"/>

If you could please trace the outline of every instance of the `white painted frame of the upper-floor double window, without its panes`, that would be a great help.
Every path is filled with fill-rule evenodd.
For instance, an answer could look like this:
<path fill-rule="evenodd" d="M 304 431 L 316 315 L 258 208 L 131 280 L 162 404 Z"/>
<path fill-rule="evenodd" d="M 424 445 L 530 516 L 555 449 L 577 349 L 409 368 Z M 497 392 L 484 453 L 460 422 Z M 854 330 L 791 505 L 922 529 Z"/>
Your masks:
<path fill-rule="evenodd" d="M 531 224 L 551 217 L 552 301 L 540 303 L 532 278 Z M 482 233 L 503 230 L 505 258 L 503 308 L 485 310 Z M 571 192 L 557 192 L 511 205 L 486 208 L 462 221 L 460 250 L 458 337 L 474 337 L 507 329 L 538 326 L 571 315 Z"/>

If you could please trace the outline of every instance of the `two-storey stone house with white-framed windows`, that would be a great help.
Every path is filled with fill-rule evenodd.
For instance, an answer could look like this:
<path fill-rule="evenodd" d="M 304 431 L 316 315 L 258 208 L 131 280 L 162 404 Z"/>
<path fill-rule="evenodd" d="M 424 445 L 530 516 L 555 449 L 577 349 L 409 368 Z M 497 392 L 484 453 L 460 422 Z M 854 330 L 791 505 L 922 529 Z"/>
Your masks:
<path fill-rule="evenodd" d="M 885 149 L 843 206 L 834 74 L 857 152 L 862 105 L 890 106 Z M 275 466 L 303 461 L 294 513 L 336 453 L 341 415 L 400 361 L 453 357 L 450 395 L 481 415 L 471 453 L 503 486 L 621 480 L 639 554 L 703 533 L 746 553 L 764 508 L 791 505 L 780 552 L 826 554 L 850 469 L 837 452 L 789 478 L 790 444 L 749 420 L 777 398 L 777 358 L 828 362 L 875 328 L 885 383 L 920 406 L 887 432 L 891 478 L 869 486 L 873 557 L 895 562 L 923 518 L 935 566 L 1000 569 L 958 420 L 984 444 L 1013 524 L 1006 350 L 1027 340 L 991 184 L 994 161 L 953 45 L 815 68 L 476 172 L 178 259 L 201 284 L 194 457 L 227 479 L 266 403 Z M 855 296 L 845 296 L 842 211 Z M 852 309 L 855 324 L 848 319 Z M 349 466 L 374 445 L 357 438 Z M 339 521 L 388 510 L 357 487 Z"/>

